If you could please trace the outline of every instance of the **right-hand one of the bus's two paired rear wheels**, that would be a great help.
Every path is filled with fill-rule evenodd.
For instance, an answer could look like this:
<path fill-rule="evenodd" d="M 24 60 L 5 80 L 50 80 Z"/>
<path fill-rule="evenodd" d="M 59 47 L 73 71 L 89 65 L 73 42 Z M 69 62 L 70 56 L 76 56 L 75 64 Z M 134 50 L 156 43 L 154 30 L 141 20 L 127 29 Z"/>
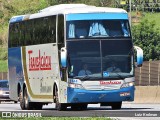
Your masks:
<path fill-rule="evenodd" d="M 29 98 L 28 98 L 28 93 L 27 93 L 27 88 L 26 87 L 24 89 L 24 105 L 25 105 L 25 108 L 27 110 L 32 110 L 33 109 L 32 103 L 29 102 Z"/>

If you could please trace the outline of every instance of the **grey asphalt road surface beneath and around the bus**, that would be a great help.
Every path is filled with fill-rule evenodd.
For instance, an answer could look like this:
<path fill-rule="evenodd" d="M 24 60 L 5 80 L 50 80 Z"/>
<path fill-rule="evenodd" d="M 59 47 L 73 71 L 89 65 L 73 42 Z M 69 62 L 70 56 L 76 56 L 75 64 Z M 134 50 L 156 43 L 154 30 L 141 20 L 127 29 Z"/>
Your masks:
<path fill-rule="evenodd" d="M 100 107 L 99 104 L 89 104 L 85 111 L 72 111 L 70 108 L 67 111 L 57 111 L 55 104 L 49 104 L 43 106 L 42 110 L 21 110 L 19 103 L 13 102 L 2 102 L 0 104 L 0 112 L 3 117 L 9 114 L 9 117 L 115 117 L 128 119 L 134 117 L 135 119 L 147 117 L 150 120 L 151 117 L 160 119 L 160 104 L 134 104 L 134 103 L 123 103 L 122 109 L 112 110 L 111 107 Z"/>

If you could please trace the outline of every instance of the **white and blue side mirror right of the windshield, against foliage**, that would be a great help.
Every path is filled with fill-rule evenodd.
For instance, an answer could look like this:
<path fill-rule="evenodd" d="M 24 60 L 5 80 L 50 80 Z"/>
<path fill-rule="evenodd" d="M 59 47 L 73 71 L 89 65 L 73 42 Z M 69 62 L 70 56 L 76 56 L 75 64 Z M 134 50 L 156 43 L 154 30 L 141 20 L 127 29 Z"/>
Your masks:
<path fill-rule="evenodd" d="M 134 46 L 134 49 L 137 51 L 136 67 L 142 67 L 142 64 L 143 64 L 143 50 L 138 46 Z"/>

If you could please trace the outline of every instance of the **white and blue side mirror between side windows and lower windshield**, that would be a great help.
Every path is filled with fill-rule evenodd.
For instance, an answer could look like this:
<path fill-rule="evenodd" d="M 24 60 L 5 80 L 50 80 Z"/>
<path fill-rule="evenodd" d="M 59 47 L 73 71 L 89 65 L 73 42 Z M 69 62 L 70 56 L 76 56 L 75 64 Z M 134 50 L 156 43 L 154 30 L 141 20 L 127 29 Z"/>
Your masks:
<path fill-rule="evenodd" d="M 62 68 L 67 67 L 67 50 L 65 47 L 61 48 L 61 66 Z"/>

